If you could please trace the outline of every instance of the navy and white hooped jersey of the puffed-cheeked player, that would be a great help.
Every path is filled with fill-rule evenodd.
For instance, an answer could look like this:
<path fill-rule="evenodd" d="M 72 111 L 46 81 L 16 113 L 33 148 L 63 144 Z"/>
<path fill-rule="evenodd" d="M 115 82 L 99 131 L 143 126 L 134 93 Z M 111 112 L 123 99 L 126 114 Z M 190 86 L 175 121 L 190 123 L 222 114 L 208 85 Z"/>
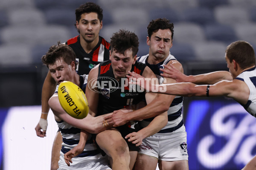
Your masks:
<path fill-rule="evenodd" d="M 154 72 L 156 77 L 159 79 L 159 83 L 163 84 L 164 78 L 160 76 L 160 74 L 163 72 L 161 72 L 159 69 L 164 68 L 163 65 L 166 65 L 170 60 L 173 60 L 173 59 L 175 59 L 175 57 L 171 55 L 169 52 L 169 56 L 163 62 L 160 62 L 156 65 L 151 65 L 148 63 L 148 55 L 139 57 L 137 61 L 145 63 Z M 183 106 L 183 97 L 175 96 L 175 99 L 173 99 L 172 104 L 170 105 L 170 108 L 167 111 L 168 123 L 158 133 L 172 133 L 173 131 L 183 126 L 182 106 Z M 143 121 L 140 122 L 140 125 L 142 127 L 146 127 L 153 119 L 154 118 L 144 119 Z"/>

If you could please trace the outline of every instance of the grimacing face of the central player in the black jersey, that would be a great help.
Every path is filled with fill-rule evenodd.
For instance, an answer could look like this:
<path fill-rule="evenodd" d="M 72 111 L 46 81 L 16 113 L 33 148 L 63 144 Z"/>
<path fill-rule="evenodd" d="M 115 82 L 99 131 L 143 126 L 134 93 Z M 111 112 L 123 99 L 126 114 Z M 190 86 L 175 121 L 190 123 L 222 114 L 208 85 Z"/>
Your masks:
<path fill-rule="evenodd" d="M 128 74 L 128 71 L 131 71 L 132 65 L 136 61 L 136 57 L 132 57 L 132 51 L 130 49 L 125 50 L 125 55 L 113 52 L 110 52 L 110 60 L 113 68 L 113 73 L 116 80 L 120 80 L 122 77 L 125 77 Z"/>

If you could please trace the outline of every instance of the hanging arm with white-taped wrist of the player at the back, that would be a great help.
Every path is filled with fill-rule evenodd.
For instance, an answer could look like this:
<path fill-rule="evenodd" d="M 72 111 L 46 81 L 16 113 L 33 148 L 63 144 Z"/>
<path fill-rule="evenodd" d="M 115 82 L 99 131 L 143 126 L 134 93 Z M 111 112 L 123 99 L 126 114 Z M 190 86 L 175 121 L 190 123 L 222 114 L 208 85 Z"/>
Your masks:
<path fill-rule="evenodd" d="M 35 127 L 35 132 L 36 132 L 37 136 L 39 136 L 39 137 L 46 136 L 46 130 L 47 130 L 47 126 L 48 126 L 47 116 L 48 116 L 48 112 L 49 112 L 48 100 L 54 93 L 55 88 L 56 88 L 56 82 L 52 78 L 50 72 L 48 71 L 48 74 L 44 80 L 44 85 L 42 88 L 42 99 L 41 99 L 42 100 L 42 113 L 41 113 L 40 120 Z"/>

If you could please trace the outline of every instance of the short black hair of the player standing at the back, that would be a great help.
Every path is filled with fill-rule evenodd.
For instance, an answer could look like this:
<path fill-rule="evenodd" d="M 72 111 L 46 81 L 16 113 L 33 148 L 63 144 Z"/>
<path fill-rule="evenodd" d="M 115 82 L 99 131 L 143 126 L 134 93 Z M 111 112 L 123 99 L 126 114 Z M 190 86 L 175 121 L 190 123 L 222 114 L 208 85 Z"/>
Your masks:
<path fill-rule="evenodd" d="M 98 19 L 101 22 L 103 19 L 103 9 L 97 5 L 96 3 L 88 2 L 80 5 L 78 8 L 76 8 L 76 21 L 79 23 L 79 20 L 81 19 L 81 15 L 84 13 L 91 13 L 95 12 L 98 15 Z M 76 26 L 76 24 L 75 24 Z M 80 31 L 77 30 L 79 33 Z"/>

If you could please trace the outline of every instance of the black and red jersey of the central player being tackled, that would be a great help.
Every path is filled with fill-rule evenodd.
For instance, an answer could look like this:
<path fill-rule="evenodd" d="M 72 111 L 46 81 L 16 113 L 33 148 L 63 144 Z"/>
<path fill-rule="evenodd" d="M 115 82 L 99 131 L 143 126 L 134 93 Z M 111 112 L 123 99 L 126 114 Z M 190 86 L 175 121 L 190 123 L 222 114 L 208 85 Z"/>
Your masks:
<path fill-rule="evenodd" d="M 145 67 L 145 64 L 136 61 L 135 64 L 132 65 L 131 71 L 142 75 Z M 145 100 L 144 91 L 131 91 L 131 89 L 129 91 L 129 85 L 124 87 L 125 79 L 128 80 L 124 77 L 119 82 L 116 81 L 111 61 L 105 61 L 99 64 L 99 85 L 101 85 L 103 81 L 107 81 L 108 83 L 103 83 L 105 85 L 104 87 L 98 87 L 100 93 L 98 115 L 111 113 L 127 105 L 136 105 L 140 101 Z"/>

